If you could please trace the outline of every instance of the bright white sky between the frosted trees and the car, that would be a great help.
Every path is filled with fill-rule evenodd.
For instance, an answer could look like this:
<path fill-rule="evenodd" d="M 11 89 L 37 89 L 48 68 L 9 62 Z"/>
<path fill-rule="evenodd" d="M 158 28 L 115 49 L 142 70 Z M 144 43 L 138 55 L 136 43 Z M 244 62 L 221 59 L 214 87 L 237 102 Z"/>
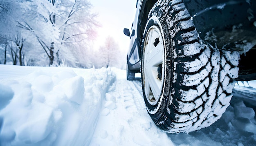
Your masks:
<path fill-rule="evenodd" d="M 136 0 L 89 0 L 92 13 L 98 13 L 97 21 L 101 27 L 97 29 L 98 37 L 94 41 L 94 49 L 103 46 L 106 38 L 111 36 L 119 44 L 121 50 L 127 50 L 130 38 L 124 35 L 124 28 L 131 28 L 135 18 Z"/>

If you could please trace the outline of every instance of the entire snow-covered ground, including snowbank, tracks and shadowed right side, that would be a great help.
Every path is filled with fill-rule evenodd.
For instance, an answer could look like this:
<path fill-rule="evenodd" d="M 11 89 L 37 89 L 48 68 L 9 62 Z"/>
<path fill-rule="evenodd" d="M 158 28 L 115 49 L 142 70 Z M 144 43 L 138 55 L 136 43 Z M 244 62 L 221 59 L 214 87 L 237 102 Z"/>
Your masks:
<path fill-rule="evenodd" d="M 256 84 L 238 82 L 233 94 L 210 127 L 168 134 L 149 117 L 139 76 L 0 65 L 0 146 L 253 146 Z"/>

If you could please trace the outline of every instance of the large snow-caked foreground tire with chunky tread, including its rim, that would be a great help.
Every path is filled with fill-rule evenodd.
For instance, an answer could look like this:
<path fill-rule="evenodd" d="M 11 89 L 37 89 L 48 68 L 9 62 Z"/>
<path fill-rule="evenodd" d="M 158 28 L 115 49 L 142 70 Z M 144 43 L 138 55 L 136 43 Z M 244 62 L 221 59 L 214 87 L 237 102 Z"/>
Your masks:
<path fill-rule="evenodd" d="M 216 122 L 229 106 L 238 59 L 238 52 L 200 40 L 181 0 L 159 0 L 141 50 L 144 100 L 155 124 L 168 133 L 189 133 Z"/>

